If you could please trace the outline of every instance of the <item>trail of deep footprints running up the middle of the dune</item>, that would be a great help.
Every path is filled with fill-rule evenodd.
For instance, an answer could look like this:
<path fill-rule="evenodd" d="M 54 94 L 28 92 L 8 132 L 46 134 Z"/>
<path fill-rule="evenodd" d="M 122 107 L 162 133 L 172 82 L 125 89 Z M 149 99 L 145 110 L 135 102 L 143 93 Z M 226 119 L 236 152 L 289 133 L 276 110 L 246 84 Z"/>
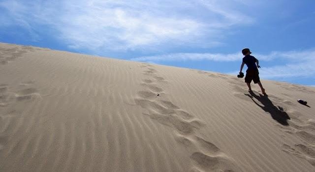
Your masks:
<path fill-rule="evenodd" d="M 157 70 L 146 63 L 140 67 L 145 68 L 143 74 L 148 78 L 141 83 L 145 90 L 137 93 L 135 103 L 148 110 L 144 115 L 176 131 L 176 141 L 186 147 L 195 165 L 190 171 L 240 171 L 234 160 L 226 156 L 215 144 L 195 135 L 194 131 L 200 129 L 204 123 L 165 98 L 164 90 L 158 87 L 158 84 L 167 81 L 157 75 Z"/>

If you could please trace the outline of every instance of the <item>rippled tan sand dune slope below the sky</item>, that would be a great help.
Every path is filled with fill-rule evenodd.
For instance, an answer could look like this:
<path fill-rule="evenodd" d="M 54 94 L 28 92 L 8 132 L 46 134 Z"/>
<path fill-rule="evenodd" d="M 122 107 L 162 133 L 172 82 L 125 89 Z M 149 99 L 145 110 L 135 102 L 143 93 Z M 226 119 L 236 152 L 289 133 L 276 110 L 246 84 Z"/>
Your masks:
<path fill-rule="evenodd" d="M 262 84 L 1 43 L 0 172 L 315 172 L 315 88 Z"/>

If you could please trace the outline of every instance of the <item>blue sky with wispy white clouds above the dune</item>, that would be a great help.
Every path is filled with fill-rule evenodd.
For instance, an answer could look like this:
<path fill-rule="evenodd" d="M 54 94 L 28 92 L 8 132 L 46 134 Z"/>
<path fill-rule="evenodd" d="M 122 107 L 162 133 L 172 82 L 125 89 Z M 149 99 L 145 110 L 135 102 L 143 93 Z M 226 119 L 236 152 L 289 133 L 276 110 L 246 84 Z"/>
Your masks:
<path fill-rule="evenodd" d="M 250 48 L 261 79 L 315 86 L 314 7 L 315 0 L 0 0 L 0 42 L 232 75 Z"/>

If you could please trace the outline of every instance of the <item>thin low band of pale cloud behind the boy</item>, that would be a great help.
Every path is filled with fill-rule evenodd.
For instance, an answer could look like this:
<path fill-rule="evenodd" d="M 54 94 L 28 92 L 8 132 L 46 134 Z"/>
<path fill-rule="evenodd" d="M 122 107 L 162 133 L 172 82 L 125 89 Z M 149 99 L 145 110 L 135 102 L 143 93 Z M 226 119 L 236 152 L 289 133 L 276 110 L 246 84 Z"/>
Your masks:
<path fill-rule="evenodd" d="M 134 61 L 241 61 L 241 53 L 233 54 L 211 54 L 211 53 L 176 53 L 149 57 L 131 58 Z M 312 77 L 315 76 L 315 50 L 271 52 L 268 55 L 255 54 L 261 61 L 274 61 L 274 66 L 267 66 L 260 69 L 260 76 L 265 79 L 293 78 L 293 77 Z M 284 64 L 279 64 L 278 60 L 283 60 Z M 260 63 L 260 64 L 261 64 Z M 239 71 L 229 72 L 237 74 Z"/>

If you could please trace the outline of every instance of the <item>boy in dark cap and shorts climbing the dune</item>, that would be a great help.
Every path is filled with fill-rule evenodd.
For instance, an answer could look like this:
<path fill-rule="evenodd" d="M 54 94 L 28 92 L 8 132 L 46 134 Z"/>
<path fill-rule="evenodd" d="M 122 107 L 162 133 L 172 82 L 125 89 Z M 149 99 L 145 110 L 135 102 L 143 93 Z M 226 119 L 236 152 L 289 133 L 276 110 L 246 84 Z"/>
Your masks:
<path fill-rule="evenodd" d="M 250 51 L 249 48 L 244 48 L 242 50 L 242 53 L 245 57 L 243 58 L 240 74 L 242 73 L 244 64 L 246 64 L 248 69 L 246 70 L 245 83 L 248 86 L 248 91 L 250 92 L 252 91 L 251 82 L 253 81 L 254 84 L 258 84 L 260 86 L 261 92 L 263 94 L 266 94 L 265 89 L 262 87 L 259 80 L 259 72 L 258 72 L 258 68 L 260 68 L 259 61 L 255 57 L 251 56 L 252 52 Z"/>

